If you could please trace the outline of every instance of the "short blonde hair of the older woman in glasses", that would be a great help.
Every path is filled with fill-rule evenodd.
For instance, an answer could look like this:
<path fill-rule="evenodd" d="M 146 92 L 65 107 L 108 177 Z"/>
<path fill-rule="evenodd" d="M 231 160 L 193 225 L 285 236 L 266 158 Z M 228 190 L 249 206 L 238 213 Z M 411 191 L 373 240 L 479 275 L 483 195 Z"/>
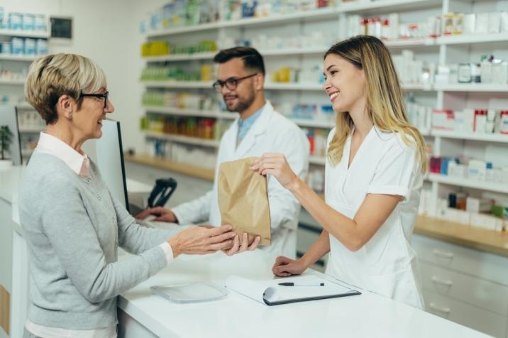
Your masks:
<path fill-rule="evenodd" d="M 81 55 L 60 53 L 32 63 L 25 84 L 25 98 L 46 124 L 55 124 L 58 119 L 56 104 L 62 95 L 72 97 L 80 109 L 82 93 L 94 93 L 106 87 L 106 75 L 94 61 Z"/>

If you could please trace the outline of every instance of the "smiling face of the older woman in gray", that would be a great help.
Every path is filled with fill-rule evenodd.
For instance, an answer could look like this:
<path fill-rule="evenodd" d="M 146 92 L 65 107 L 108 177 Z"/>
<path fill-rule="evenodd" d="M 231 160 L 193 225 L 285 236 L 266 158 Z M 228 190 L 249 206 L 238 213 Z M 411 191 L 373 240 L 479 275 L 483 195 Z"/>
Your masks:
<path fill-rule="evenodd" d="M 101 88 L 90 94 L 104 94 L 105 92 L 106 89 Z M 83 97 L 81 109 L 72 113 L 74 126 L 85 140 L 101 138 L 102 120 L 106 119 L 106 114 L 115 110 L 109 99 L 106 108 L 104 108 L 104 99 L 104 97 Z"/>

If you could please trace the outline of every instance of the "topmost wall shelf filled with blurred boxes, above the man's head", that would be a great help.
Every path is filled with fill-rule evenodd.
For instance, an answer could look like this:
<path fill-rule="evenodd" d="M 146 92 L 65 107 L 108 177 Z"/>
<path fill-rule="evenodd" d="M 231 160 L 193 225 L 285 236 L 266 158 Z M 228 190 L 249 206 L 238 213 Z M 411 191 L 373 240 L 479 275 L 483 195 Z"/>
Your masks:
<path fill-rule="evenodd" d="M 150 18 L 143 20 L 140 31 L 145 33 L 145 38 L 148 39 L 219 28 L 279 25 L 299 23 L 304 20 L 333 20 L 339 17 L 339 13 L 372 13 L 373 11 L 390 13 L 397 10 L 427 9 L 441 3 L 441 0 L 338 1 L 336 6 L 333 6 L 335 3 L 332 4 L 331 1 L 316 1 L 314 3 L 302 1 L 300 3 L 260 4 L 250 9 L 226 3 L 226 6 L 219 9 L 218 12 L 216 4 L 214 6 L 214 4 L 205 2 L 203 6 L 213 6 L 211 13 L 208 13 L 205 19 L 200 16 L 200 13 L 195 12 L 196 15 L 185 18 L 184 4 L 180 4 L 180 11 L 175 9 L 179 4 L 174 4 L 155 11 Z M 171 25 L 170 23 L 177 24 Z"/>

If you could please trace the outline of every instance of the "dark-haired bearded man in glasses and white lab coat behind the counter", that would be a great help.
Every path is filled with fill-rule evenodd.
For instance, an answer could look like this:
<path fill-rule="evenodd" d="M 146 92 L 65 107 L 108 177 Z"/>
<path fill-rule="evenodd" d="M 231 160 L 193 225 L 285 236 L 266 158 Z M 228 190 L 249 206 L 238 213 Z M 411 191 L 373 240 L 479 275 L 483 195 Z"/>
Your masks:
<path fill-rule="evenodd" d="M 284 153 L 294 173 L 305 180 L 309 170 L 309 141 L 296 124 L 277 113 L 265 100 L 265 65 L 260 53 L 254 48 L 230 48 L 215 55 L 214 62 L 219 63 L 214 89 L 221 93 L 228 111 L 239 115 L 221 139 L 216 175 L 222 162 L 260 157 L 263 153 Z M 272 245 L 260 249 L 277 256 L 296 258 L 300 204 L 275 178 L 268 176 L 267 180 Z M 148 209 L 136 218 L 155 214 L 158 218 L 153 221 L 192 224 L 209 220 L 212 226 L 219 227 L 221 212 L 217 195 L 216 176 L 213 190 L 197 200 L 171 210 L 162 207 Z M 250 247 L 239 246 L 235 241 L 226 254 L 252 250 L 257 244 L 255 241 Z"/>

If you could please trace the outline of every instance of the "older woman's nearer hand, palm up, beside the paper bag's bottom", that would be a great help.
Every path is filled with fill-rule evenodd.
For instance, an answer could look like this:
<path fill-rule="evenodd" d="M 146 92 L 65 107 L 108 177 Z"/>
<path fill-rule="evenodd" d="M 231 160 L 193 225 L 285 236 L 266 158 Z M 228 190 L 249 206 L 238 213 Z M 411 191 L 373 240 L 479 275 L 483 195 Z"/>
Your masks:
<path fill-rule="evenodd" d="M 213 254 L 233 241 L 236 234 L 231 225 L 223 225 L 214 229 L 190 227 L 173 236 L 167 243 L 173 251 L 173 257 L 181 254 L 204 255 Z"/>

